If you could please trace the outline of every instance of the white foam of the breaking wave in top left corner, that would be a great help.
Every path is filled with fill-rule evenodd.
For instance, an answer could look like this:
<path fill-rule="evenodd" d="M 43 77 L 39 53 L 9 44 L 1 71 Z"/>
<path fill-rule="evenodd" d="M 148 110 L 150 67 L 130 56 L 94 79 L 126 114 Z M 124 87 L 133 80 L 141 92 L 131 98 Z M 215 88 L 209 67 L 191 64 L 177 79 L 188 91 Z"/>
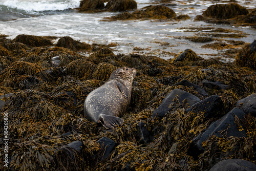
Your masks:
<path fill-rule="evenodd" d="M 0 5 L 27 12 L 56 11 L 79 7 L 80 0 L 7 0 Z"/>

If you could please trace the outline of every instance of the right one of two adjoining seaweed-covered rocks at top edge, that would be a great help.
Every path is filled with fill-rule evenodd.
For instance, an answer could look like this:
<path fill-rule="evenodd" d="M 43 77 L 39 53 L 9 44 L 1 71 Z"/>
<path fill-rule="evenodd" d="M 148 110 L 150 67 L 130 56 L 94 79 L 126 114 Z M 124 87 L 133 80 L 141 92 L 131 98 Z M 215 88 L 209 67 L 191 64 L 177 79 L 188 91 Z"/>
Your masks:
<path fill-rule="evenodd" d="M 114 12 L 127 11 L 137 9 L 137 3 L 134 0 L 111 0 L 105 8 Z"/>

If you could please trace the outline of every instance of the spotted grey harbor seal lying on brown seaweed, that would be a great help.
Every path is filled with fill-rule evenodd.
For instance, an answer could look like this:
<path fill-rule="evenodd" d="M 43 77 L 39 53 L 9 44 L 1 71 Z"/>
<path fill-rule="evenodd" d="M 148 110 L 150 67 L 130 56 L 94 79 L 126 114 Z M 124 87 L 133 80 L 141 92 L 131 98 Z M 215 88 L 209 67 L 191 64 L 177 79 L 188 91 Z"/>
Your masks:
<path fill-rule="evenodd" d="M 93 90 L 84 101 L 84 115 L 92 121 L 101 123 L 106 129 L 122 125 L 119 118 L 131 101 L 132 83 L 135 68 L 119 68 L 101 87 Z"/>

